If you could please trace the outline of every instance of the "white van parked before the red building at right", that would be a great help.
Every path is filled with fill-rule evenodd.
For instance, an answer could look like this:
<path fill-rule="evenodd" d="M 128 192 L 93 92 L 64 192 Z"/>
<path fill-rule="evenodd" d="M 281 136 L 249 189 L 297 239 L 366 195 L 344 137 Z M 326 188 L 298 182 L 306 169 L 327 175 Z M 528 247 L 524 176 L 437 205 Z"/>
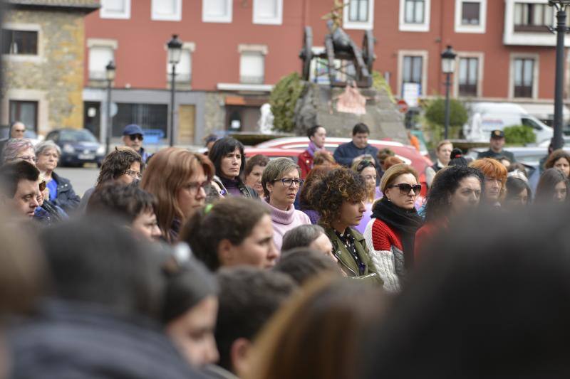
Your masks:
<path fill-rule="evenodd" d="M 532 127 L 537 135 L 537 144 L 552 139 L 554 130 L 531 116 L 518 104 L 510 102 L 472 102 L 470 118 L 463 127 L 468 140 L 483 142 L 489 140 L 492 130 L 504 129 L 514 125 Z"/>

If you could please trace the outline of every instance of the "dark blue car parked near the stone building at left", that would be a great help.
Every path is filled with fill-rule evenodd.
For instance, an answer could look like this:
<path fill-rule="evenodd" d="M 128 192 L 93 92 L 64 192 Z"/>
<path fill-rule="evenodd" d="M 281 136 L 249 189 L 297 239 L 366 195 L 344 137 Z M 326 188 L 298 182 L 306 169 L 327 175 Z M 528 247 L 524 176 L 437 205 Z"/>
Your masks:
<path fill-rule="evenodd" d="M 100 166 L 105 157 L 105 146 L 87 129 L 56 129 L 48 133 L 48 139 L 61 149 L 61 166 L 82 166 L 86 163 Z"/>

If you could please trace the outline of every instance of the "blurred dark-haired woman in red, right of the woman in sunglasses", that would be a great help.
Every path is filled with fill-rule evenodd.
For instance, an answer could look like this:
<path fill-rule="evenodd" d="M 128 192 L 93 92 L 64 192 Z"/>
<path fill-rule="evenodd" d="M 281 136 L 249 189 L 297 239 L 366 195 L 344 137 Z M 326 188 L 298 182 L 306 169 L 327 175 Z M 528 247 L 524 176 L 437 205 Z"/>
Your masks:
<path fill-rule="evenodd" d="M 460 218 L 477 208 L 484 191 L 484 177 L 467 166 L 445 166 L 437 171 L 425 203 L 425 224 L 415 233 L 415 261 L 437 233 L 447 230 L 451 218 Z"/>

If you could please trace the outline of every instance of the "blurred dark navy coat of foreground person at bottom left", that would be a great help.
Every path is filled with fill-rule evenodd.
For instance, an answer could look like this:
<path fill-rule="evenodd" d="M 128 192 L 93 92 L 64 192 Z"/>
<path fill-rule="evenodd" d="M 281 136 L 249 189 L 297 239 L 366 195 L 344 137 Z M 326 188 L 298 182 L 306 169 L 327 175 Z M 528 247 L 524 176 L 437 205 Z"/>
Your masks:
<path fill-rule="evenodd" d="M 203 378 L 150 319 L 51 301 L 9 338 L 13 379 Z"/>

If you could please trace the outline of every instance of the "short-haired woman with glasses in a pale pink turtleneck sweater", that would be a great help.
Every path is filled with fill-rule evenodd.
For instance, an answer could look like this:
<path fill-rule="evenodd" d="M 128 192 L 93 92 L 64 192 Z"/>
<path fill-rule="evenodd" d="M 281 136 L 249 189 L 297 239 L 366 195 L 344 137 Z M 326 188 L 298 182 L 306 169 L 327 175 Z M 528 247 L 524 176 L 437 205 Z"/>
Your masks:
<path fill-rule="evenodd" d="M 283 235 L 299 225 L 310 224 L 309 216 L 296 210 L 293 203 L 303 183 L 300 169 L 289 158 L 269 161 L 261 176 L 264 201 L 271 208 L 271 221 L 274 228 L 274 242 L 281 250 Z"/>

